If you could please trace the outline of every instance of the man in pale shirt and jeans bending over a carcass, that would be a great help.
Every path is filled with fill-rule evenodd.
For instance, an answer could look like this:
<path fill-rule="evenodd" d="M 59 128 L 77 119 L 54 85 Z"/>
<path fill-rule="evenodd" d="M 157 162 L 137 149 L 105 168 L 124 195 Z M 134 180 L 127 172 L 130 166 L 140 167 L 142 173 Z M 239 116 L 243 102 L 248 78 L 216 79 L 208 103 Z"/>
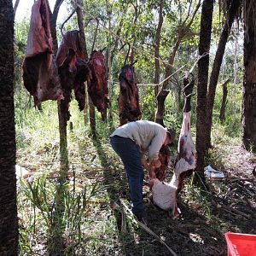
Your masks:
<path fill-rule="evenodd" d="M 113 150 L 122 160 L 127 174 L 132 212 L 138 220 L 144 217 L 143 207 L 143 166 L 147 170 L 159 168 L 159 151 L 163 145 L 173 142 L 171 133 L 163 126 L 151 121 L 139 120 L 117 128 L 110 136 Z M 143 153 L 148 151 L 148 160 Z"/>

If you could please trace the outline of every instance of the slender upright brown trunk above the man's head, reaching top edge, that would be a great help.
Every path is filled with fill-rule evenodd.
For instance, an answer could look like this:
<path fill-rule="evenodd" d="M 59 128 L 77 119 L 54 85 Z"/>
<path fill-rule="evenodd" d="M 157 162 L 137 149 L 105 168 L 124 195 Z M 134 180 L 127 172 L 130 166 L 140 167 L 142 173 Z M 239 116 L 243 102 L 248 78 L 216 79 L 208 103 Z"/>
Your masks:
<path fill-rule="evenodd" d="M 155 45 L 154 45 L 154 84 L 159 84 L 160 82 L 160 38 L 161 38 L 161 29 L 163 26 L 163 7 L 164 7 L 164 0 L 160 1 L 160 6 L 159 6 L 159 21 L 158 21 L 158 26 L 156 29 L 156 34 L 155 34 Z M 154 86 L 154 96 L 158 96 L 160 90 L 159 85 Z"/>

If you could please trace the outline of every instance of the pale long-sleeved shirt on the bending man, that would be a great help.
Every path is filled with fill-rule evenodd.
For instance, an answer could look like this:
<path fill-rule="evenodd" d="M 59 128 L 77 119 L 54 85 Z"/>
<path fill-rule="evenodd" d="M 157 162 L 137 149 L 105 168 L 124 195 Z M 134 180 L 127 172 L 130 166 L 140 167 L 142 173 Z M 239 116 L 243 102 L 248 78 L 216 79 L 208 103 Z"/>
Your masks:
<path fill-rule="evenodd" d="M 149 160 L 158 159 L 160 148 L 166 140 L 166 128 L 151 121 L 139 120 L 117 128 L 110 137 L 130 138 L 143 152 L 148 151 Z"/>

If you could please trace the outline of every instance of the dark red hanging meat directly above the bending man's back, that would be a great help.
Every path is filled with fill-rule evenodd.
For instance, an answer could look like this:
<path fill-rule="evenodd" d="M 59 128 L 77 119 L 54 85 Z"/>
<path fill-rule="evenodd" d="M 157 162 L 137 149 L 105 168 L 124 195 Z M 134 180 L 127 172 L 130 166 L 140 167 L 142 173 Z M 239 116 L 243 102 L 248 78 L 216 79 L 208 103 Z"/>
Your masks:
<path fill-rule="evenodd" d="M 128 122 L 142 118 L 139 105 L 136 73 L 133 65 L 125 65 L 119 74 L 119 122 L 125 125 Z"/>

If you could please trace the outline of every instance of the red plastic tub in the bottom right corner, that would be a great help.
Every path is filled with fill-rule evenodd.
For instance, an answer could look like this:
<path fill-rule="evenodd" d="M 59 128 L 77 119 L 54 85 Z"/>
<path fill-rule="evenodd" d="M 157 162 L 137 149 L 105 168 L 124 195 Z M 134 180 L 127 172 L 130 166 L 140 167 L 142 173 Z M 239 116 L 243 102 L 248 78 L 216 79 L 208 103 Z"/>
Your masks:
<path fill-rule="evenodd" d="M 256 256 L 256 235 L 227 232 L 224 236 L 228 256 Z"/>

